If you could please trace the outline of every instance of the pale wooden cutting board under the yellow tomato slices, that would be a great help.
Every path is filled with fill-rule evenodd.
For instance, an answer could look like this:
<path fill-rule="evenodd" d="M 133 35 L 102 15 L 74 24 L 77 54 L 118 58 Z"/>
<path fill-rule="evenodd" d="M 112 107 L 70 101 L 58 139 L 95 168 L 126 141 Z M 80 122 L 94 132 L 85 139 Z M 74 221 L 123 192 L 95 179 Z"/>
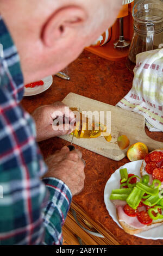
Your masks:
<path fill-rule="evenodd" d="M 101 136 L 92 139 L 77 139 L 74 137 L 73 144 L 79 145 L 80 147 L 116 161 L 122 160 L 126 156 L 127 152 L 127 149 L 121 150 L 118 147 L 117 138 L 120 135 L 126 135 L 129 138 L 130 145 L 136 142 L 145 143 L 149 151 L 157 148 L 163 148 L 163 143 L 154 141 L 146 135 L 145 118 L 140 114 L 126 111 L 120 107 L 92 100 L 74 93 L 69 93 L 62 102 L 69 107 L 80 108 L 80 112 L 111 112 L 112 139 L 110 142 L 107 142 L 105 138 Z M 60 138 L 71 142 L 72 135 L 61 136 Z"/>

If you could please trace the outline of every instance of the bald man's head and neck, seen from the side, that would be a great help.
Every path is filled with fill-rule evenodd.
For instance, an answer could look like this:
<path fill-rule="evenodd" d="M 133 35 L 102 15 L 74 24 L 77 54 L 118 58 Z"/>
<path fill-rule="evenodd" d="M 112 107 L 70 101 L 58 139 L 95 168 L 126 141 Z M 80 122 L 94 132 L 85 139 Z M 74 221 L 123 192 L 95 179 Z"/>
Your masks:
<path fill-rule="evenodd" d="M 56 74 L 114 23 L 122 0 L 0 0 L 24 82 Z"/>

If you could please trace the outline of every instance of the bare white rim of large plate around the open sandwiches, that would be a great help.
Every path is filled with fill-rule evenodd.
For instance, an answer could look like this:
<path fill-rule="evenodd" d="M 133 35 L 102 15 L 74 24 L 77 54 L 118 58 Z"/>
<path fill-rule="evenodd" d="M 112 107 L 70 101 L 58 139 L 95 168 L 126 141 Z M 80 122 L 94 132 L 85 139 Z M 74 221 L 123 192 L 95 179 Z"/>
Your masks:
<path fill-rule="evenodd" d="M 120 187 L 120 169 L 127 168 L 128 174 L 133 173 L 135 175 L 138 175 L 140 177 L 140 167 L 141 167 L 142 160 L 129 162 L 124 164 L 124 166 L 121 166 L 119 169 L 117 169 L 110 177 L 110 179 L 106 182 L 105 190 L 104 190 L 104 202 L 106 205 L 106 209 L 109 212 L 109 215 L 112 217 L 112 220 L 114 220 L 120 228 L 121 225 L 118 222 L 117 215 L 116 215 L 116 208 L 113 203 L 111 203 L 109 197 L 111 194 L 111 191 L 115 188 Z M 135 234 L 135 236 L 145 238 L 145 239 L 163 239 L 163 228 L 162 225 L 160 227 L 152 228 L 147 231 L 143 231 L 139 234 Z"/>

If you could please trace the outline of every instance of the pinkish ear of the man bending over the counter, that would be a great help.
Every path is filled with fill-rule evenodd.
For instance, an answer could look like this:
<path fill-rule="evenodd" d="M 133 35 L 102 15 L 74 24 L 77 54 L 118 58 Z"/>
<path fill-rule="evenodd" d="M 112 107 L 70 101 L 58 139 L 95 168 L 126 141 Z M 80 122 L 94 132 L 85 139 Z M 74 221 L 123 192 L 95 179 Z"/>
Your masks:
<path fill-rule="evenodd" d="M 87 19 L 86 11 L 80 7 L 68 6 L 55 11 L 42 28 L 41 39 L 47 47 L 54 42 L 71 36 L 77 26 Z"/>

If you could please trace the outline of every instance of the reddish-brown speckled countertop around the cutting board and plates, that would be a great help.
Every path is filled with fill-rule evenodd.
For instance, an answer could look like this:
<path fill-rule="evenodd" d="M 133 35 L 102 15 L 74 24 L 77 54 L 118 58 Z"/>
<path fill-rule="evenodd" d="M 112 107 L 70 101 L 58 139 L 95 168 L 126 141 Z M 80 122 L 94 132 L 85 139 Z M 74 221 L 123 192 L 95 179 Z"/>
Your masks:
<path fill-rule="evenodd" d="M 70 81 L 53 76 L 53 84 L 48 90 L 39 95 L 24 97 L 22 106 L 32 113 L 41 105 L 62 101 L 70 92 L 116 105 L 129 92 L 133 82 L 133 74 L 126 68 L 125 60 L 111 62 L 87 51 L 80 54 L 78 59 L 64 72 L 71 77 Z M 162 132 L 145 130 L 149 137 L 163 142 Z M 68 144 L 60 138 L 52 138 L 39 143 L 45 158 Z M 79 146 L 76 148 L 82 151 L 86 162 L 86 179 L 84 190 L 78 196 L 73 197 L 73 202 L 82 208 L 93 221 L 113 234 L 121 245 L 163 245 L 162 240 L 141 239 L 125 233 L 112 220 L 105 208 L 103 194 L 106 181 L 116 169 L 129 162 L 127 157 L 117 162 Z"/>

